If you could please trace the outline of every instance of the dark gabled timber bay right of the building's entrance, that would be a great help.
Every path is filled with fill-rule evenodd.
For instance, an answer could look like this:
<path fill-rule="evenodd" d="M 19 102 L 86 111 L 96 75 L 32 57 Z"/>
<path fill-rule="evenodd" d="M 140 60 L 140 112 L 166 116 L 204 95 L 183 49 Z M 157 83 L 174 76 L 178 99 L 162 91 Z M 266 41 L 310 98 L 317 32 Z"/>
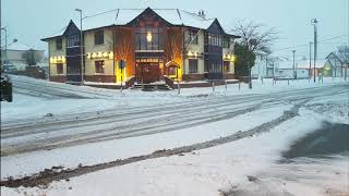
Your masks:
<path fill-rule="evenodd" d="M 205 33 L 205 71 L 208 79 L 222 78 L 222 46 L 224 29 L 217 20 Z"/>

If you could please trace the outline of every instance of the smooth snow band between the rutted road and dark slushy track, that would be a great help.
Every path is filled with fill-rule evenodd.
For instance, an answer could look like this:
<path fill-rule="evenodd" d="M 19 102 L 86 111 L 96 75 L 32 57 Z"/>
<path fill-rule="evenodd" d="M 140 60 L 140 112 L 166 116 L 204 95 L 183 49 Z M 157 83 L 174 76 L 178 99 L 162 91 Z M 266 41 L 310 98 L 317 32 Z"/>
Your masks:
<path fill-rule="evenodd" d="M 2 157 L 1 179 L 3 180 L 5 176 L 10 175 L 19 176 L 37 173 L 44 169 L 51 168 L 52 166 L 76 168 L 80 163 L 83 166 L 91 166 L 152 154 L 158 149 L 169 149 L 202 143 L 212 138 L 228 136 L 238 131 L 250 130 L 282 115 L 284 111 L 289 108 L 290 106 L 284 106 L 256 110 L 234 119 L 176 132 Z"/>

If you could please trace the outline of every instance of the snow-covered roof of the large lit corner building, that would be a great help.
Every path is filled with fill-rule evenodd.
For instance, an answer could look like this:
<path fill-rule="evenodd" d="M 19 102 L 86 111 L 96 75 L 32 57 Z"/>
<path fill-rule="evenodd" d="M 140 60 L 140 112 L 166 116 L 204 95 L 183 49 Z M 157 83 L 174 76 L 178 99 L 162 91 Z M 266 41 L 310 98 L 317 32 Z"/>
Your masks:
<path fill-rule="evenodd" d="M 207 29 L 215 19 L 204 19 L 197 13 L 188 12 L 179 9 L 152 9 L 160 17 L 172 25 L 191 26 L 201 29 Z M 145 10 L 143 9 L 115 9 L 98 14 L 86 16 L 83 20 L 83 29 L 89 30 L 105 26 L 127 25 Z M 77 27 L 80 22 L 74 21 Z M 67 27 L 67 26 L 65 26 Z M 64 29 L 57 32 L 48 38 L 61 36 Z"/>

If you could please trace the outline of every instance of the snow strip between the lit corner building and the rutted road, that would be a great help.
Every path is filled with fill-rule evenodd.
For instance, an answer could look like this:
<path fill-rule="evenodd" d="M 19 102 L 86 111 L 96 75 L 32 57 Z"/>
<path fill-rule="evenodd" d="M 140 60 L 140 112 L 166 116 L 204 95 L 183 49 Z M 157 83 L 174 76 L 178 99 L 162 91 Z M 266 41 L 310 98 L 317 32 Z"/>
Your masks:
<path fill-rule="evenodd" d="M 178 90 L 172 91 L 141 91 L 141 90 L 123 90 L 119 89 L 104 89 L 88 86 L 75 86 L 61 83 L 53 83 L 43 79 L 35 79 L 26 76 L 11 76 L 13 83 L 19 85 L 29 84 L 32 86 L 44 89 L 44 91 L 59 91 L 60 94 L 73 93 L 75 95 L 85 97 L 82 99 L 72 98 L 45 98 L 38 96 L 28 96 L 23 90 L 16 90 L 14 87 L 14 101 L 1 102 L 1 121 L 19 120 L 25 118 L 40 118 L 47 113 L 65 114 L 80 113 L 88 111 L 98 111 L 107 109 L 122 110 L 128 107 L 154 106 L 159 103 L 171 103 L 190 100 L 192 98 L 201 98 L 203 96 L 238 96 L 245 94 L 269 94 L 288 89 L 301 89 L 318 86 L 330 86 L 335 84 L 348 84 L 342 78 L 325 78 L 324 83 L 313 83 L 308 79 L 278 81 L 273 85 L 272 79 L 253 81 L 253 89 L 249 89 L 246 84 L 230 84 L 227 86 L 216 86 L 215 91 L 212 87 L 204 88 L 183 88 L 180 95 Z M 34 86 L 33 86 L 34 85 Z M 16 93 L 20 91 L 21 94 Z M 33 89 L 35 91 L 35 89 Z M 24 95 L 23 95 L 24 94 Z"/>

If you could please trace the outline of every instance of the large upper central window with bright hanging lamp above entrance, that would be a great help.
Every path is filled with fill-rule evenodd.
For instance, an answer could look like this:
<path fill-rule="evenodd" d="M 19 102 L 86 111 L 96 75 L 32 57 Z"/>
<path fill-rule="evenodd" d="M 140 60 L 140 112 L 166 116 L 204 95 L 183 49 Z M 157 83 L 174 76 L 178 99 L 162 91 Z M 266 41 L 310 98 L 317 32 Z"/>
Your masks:
<path fill-rule="evenodd" d="M 164 50 L 163 28 L 141 27 L 135 32 L 136 50 Z"/>

